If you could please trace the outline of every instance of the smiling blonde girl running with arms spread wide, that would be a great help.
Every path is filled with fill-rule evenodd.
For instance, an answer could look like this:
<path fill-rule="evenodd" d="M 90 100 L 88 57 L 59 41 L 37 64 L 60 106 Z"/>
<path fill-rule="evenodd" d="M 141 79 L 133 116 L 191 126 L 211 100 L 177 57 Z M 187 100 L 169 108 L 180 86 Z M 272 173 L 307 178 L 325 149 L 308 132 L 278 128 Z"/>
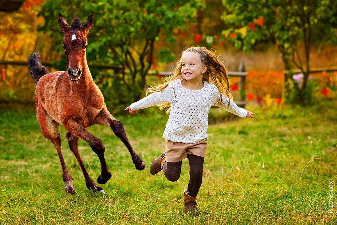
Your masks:
<path fill-rule="evenodd" d="M 150 166 L 150 173 L 163 170 L 170 181 L 180 177 L 182 160 L 188 158 L 190 180 L 184 191 L 185 210 L 196 212 L 196 196 L 199 192 L 204 157 L 207 146 L 208 112 L 211 106 L 221 107 L 241 118 L 254 113 L 238 107 L 229 93 L 229 81 L 225 67 L 218 61 L 215 53 L 201 47 L 186 49 L 175 73 L 146 93 L 153 92 L 125 110 L 137 112 L 150 106 L 160 109 L 170 106 L 170 116 L 163 138 L 166 139 L 164 151 Z"/>

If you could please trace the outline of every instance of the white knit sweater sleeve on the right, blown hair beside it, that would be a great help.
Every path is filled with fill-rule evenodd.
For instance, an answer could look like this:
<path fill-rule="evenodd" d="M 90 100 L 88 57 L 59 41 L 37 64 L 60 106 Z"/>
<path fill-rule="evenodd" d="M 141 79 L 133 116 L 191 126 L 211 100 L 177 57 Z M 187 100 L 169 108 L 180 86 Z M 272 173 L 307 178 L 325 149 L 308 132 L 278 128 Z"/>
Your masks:
<path fill-rule="evenodd" d="M 218 102 L 219 89 L 215 85 L 213 88 L 214 91 L 212 95 L 212 104 L 215 105 Z M 220 105 L 222 109 L 227 110 L 228 112 L 231 112 L 241 118 L 245 118 L 247 116 L 247 110 L 237 106 L 232 100 L 230 100 L 227 96 L 223 95 L 222 93 L 221 95 L 222 95 L 222 102 L 220 103 Z"/>

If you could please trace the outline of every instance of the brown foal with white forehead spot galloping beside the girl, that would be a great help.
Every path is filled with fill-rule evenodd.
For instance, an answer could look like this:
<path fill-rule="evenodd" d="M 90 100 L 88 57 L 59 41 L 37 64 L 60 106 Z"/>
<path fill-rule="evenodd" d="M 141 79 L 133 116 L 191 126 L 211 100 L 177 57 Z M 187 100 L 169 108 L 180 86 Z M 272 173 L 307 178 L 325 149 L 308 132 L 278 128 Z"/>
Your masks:
<path fill-rule="evenodd" d="M 78 149 L 79 138 L 89 143 L 101 164 L 101 174 L 98 176 L 97 182 L 105 184 L 111 177 L 111 172 L 105 163 L 105 148 L 100 139 L 86 130 L 87 127 L 93 124 L 110 126 L 129 150 L 136 169 L 143 170 L 145 163 L 129 143 L 123 124 L 106 109 L 102 92 L 90 74 L 86 49 L 88 46 L 87 34 L 92 25 L 92 15 L 83 25 L 79 18 L 75 18 L 72 20 L 71 26 L 68 26 L 64 17 L 59 13 L 58 23 L 64 36 L 62 47 L 67 58 L 68 71 L 49 73 L 41 64 L 41 57 L 36 52 L 27 59 L 30 74 L 36 83 L 36 118 L 43 136 L 51 140 L 57 150 L 62 166 L 65 191 L 74 194 L 75 188 L 72 185 L 72 176 L 62 156 L 61 138 L 57 130 L 59 124 L 68 130 L 66 137 L 69 147 L 80 164 L 87 188 L 104 193 L 103 189 L 97 186 L 89 176 Z"/>

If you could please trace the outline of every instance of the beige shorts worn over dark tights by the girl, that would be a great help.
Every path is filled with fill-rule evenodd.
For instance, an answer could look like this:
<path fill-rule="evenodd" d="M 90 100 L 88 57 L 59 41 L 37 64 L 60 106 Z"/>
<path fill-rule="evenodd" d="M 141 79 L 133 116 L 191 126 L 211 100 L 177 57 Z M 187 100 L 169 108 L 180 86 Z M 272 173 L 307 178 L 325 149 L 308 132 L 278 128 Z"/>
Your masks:
<path fill-rule="evenodd" d="M 205 158 L 207 138 L 192 144 L 173 142 L 166 139 L 166 162 L 177 163 L 187 158 L 187 154 Z"/>

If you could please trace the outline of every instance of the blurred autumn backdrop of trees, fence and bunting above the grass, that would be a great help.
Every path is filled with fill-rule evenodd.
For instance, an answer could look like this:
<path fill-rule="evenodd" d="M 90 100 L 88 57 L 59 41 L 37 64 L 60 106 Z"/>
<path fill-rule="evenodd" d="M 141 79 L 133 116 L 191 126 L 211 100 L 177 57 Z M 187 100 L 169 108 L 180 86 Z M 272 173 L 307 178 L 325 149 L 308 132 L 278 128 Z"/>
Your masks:
<path fill-rule="evenodd" d="M 87 59 L 113 113 L 171 73 L 190 46 L 219 52 L 232 75 L 236 102 L 277 107 L 332 101 L 336 2 L 3 0 L 0 105 L 34 105 L 35 84 L 26 62 L 32 52 L 50 72 L 65 70 L 59 12 L 68 24 L 75 17 L 84 23 L 93 13 Z M 241 78 L 237 71 L 244 71 Z"/>

